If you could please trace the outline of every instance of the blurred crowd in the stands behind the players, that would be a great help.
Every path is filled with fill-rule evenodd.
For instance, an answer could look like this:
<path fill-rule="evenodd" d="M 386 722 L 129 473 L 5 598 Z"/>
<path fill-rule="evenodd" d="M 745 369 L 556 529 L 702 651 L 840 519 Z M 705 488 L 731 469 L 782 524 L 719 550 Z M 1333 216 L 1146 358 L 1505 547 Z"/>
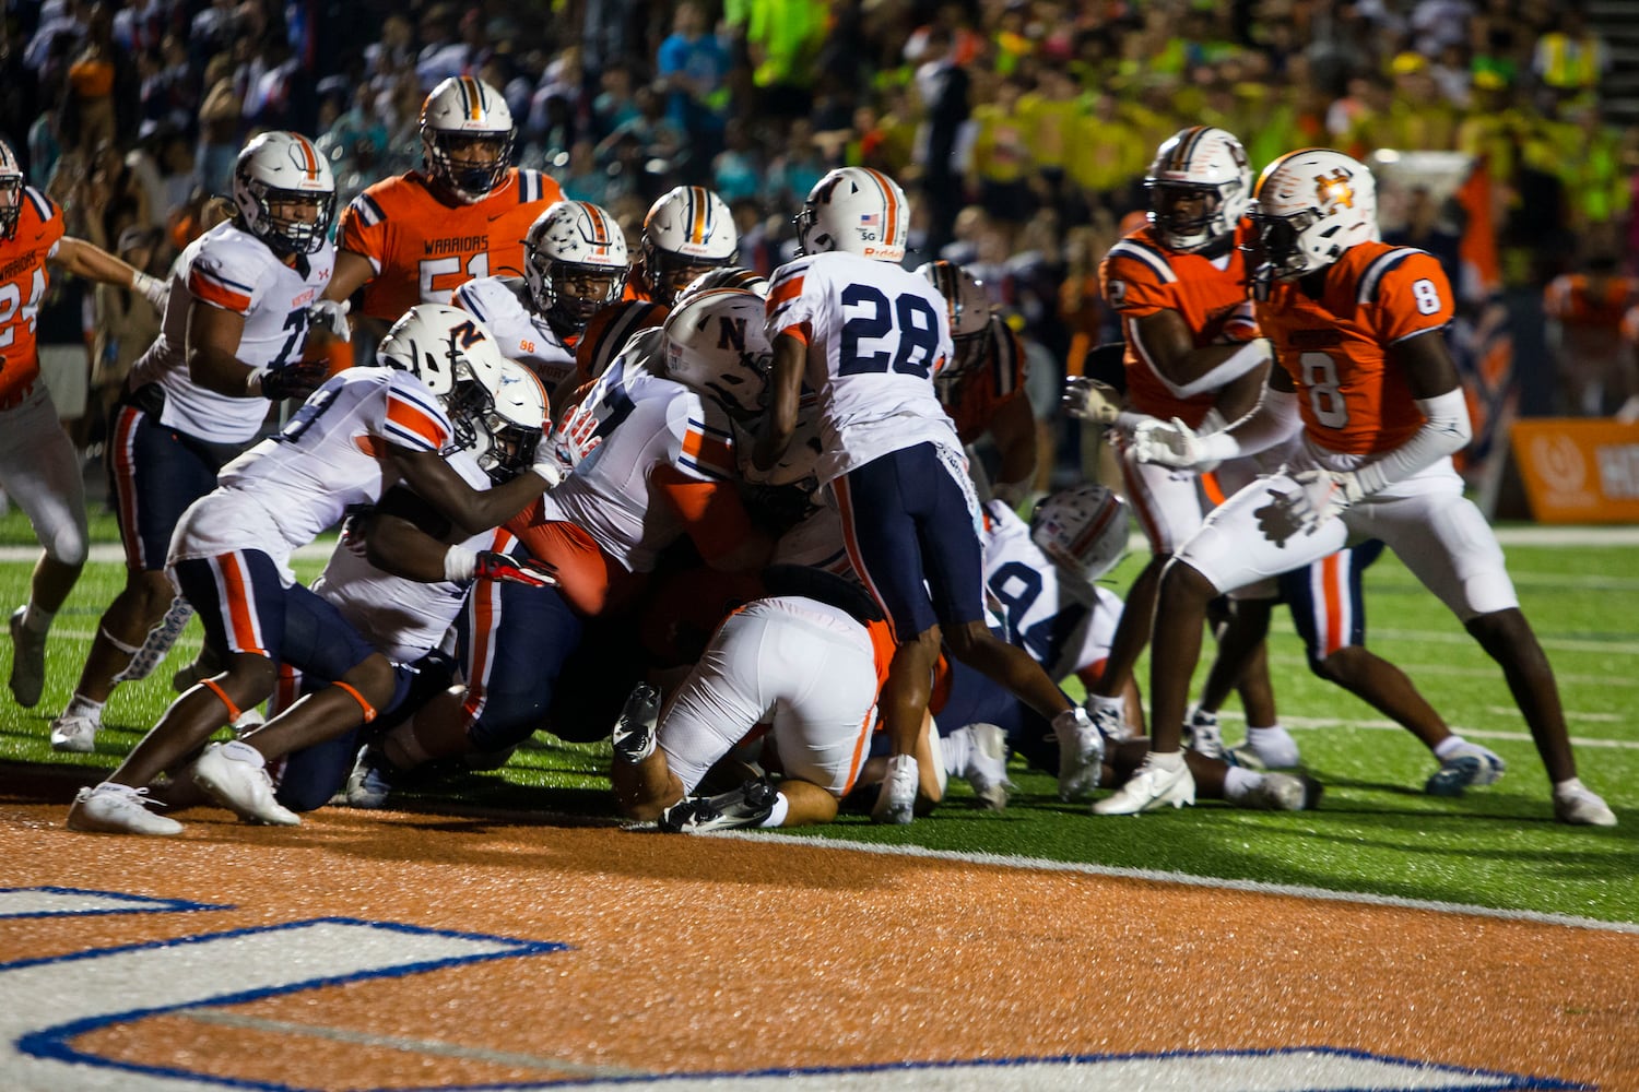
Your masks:
<path fill-rule="evenodd" d="M 0 64 L 0 133 L 31 183 L 70 234 L 151 272 L 225 214 L 213 195 L 254 131 L 313 134 L 346 201 L 416 165 L 421 100 L 457 74 L 503 90 L 523 165 L 633 237 L 669 187 L 713 187 L 764 272 L 813 182 L 880 167 L 916 210 L 908 264 L 962 262 L 1026 334 L 1042 416 L 1118 336 L 1096 264 L 1185 124 L 1239 134 L 1254 170 L 1314 144 L 1473 156 L 1498 259 L 1473 295 L 1529 300 L 1511 314 L 1549 331 L 1516 354 L 1550 377 L 1554 404 L 1528 411 L 1621 401 L 1552 380 L 1572 316 L 1549 293 L 1542 326 L 1555 277 L 1603 278 L 1613 344 L 1639 303 L 1639 128 L 1608 120 L 1609 47 L 1564 0 L 8 0 Z M 1455 264 L 1470 211 L 1414 190 L 1403 237 Z M 95 406 L 151 319 L 52 290 L 41 341 L 87 339 Z"/>

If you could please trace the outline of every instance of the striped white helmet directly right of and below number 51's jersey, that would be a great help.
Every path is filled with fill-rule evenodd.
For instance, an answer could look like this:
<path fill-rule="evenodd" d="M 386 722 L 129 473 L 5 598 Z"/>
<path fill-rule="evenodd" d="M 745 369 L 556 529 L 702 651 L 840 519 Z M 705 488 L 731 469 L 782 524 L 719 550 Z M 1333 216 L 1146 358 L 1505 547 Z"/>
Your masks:
<path fill-rule="evenodd" d="M 592 201 L 557 201 L 523 239 L 523 277 L 539 314 L 561 336 L 579 334 L 616 303 L 631 259 L 620 224 Z"/>

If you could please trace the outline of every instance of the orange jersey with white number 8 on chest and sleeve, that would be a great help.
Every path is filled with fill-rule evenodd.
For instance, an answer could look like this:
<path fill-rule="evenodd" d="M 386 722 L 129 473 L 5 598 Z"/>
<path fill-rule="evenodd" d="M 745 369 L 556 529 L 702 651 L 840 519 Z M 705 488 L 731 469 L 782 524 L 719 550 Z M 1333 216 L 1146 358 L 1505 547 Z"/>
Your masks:
<path fill-rule="evenodd" d="M 1439 259 L 1387 242 L 1346 250 L 1326 270 L 1319 300 L 1277 282 L 1257 303 L 1257 321 L 1296 383 L 1310 439 L 1347 455 L 1380 455 L 1411 439 L 1423 413 L 1387 352 L 1451 323 L 1452 303 Z"/>

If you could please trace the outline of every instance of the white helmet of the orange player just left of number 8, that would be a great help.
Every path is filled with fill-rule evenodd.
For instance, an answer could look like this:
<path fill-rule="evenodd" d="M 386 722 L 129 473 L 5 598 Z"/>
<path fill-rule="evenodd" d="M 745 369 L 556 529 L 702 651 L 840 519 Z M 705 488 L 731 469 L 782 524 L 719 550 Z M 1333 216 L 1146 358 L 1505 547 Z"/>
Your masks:
<path fill-rule="evenodd" d="M 1252 200 L 1252 167 L 1241 141 L 1213 126 L 1180 129 L 1155 151 L 1144 175 L 1149 223 L 1172 250 L 1200 250 L 1233 234 Z M 1180 196 L 1200 195 L 1198 214 L 1175 210 Z"/>

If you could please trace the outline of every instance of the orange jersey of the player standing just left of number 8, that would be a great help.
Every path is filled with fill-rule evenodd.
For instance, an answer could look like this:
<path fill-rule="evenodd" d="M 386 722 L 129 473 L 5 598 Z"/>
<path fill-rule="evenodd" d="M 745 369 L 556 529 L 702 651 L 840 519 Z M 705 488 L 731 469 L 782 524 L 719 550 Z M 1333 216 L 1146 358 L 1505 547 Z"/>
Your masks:
<path fill-rule="evenodd" d="M 1236 231 L 1236 244 L 1244 242 L 1246 228 Z M 1234 311 L 1246 303 L 1246 255 L 1239 246 L 1218 259 L 1178 254 L 1162 246 L 1154 228 L 1144 224 L 1110 247 L 1098 265 L 1098 285 L 1105 301 L 1121 314 L 1126 336 L 1128 406 L 1167 421 L 1180 417 L 1198 426 L 1213 408 L 1216 391 L 1178 398 L 1155 373 L 1134 344 L 1131 323 L 1157 311 L 1177 311 L 1195 334 L 1195 347 L 1218 344 L 1234 321 Z"/>

